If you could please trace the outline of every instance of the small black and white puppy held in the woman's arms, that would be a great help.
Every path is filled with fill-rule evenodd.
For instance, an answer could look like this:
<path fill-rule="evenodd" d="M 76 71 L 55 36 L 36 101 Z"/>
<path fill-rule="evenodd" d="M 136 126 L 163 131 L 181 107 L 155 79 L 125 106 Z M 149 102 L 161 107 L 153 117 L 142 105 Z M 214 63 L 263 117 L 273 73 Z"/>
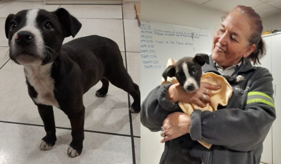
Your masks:
<path fill-rule="evenodd" d="M 194 58 L 184 57 L 178 60 L 175 65 L 168 66 L 162 76 L 165 81 L 167 81 L 167 77 L 176 77 L 185 92 L 195 92 L 200 87 L 200 79 L 202 76 L 201 67 L 205 63 L 209 64 L 209 56 L 207 54 L 196 54 Z M 237 84 L 244 80 L 244 77 L 241 75 L 237 77 L 223 75 L 223 77 L 230 84 Z M 189 134 L 185 134 L 172 140 L 172 142 L 179 142 L 182 145 L 176 156 L 173 158 L 180 157 L 190 164 L 203 164 L 203 160 L 201 158 L 196 158 L 189 154 L 189 148 L 197 142 L 191 141 L 192 139 Z"/>

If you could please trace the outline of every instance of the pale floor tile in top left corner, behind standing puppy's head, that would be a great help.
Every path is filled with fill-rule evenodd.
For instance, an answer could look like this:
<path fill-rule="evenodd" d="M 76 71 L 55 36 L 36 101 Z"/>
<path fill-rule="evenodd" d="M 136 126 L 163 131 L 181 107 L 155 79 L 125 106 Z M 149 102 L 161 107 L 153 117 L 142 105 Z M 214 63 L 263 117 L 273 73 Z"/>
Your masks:
<path fill-rule="evenodd" d="M 17 14 L 21 10 L 27 9 L 45 9 L 55 11 L 60 5 L 45 5 L 44 2 L 12 2 L 3 8 L 0 8 L 0 17 L 6 18 L 9 14 Z"/>

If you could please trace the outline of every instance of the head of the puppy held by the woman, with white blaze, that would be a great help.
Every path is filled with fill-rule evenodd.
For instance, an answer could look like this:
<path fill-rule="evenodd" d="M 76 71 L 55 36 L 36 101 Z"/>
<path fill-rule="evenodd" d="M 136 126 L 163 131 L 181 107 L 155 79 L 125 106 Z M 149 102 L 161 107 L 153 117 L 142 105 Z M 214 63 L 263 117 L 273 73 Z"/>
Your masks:
<path fill-rule="evenodd" d="M 194 92 L 200 87 L 201 66 L 205 62 L 209 64 L 209 56 L 206 54 L 196 54 L 194 58 L 184 57 L 175 65 L 167 67 L 163 77 L 165 80 L 167 76 L 176 77 L 185 92 Z"/>

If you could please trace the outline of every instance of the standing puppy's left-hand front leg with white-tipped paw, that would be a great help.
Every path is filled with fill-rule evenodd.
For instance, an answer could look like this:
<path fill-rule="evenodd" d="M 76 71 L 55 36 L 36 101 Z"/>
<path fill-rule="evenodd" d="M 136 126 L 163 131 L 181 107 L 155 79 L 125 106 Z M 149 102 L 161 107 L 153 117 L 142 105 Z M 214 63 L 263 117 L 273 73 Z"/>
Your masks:
<path fill-rule="evenodd" d="M 56 142 L 56 128 L 53 106 L 38 104 L 38 112 L 44 123 L 46 136 L 42 138 L 40 150 L 51 150 Z"/>

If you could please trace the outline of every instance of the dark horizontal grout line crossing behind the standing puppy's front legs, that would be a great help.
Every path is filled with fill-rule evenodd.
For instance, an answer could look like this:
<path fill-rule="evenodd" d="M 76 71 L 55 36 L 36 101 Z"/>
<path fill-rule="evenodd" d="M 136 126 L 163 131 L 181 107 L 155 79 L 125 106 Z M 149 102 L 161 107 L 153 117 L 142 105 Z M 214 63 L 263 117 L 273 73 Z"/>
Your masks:
<path fill-rule="evenodd" d="M 19 124 L 19 125 L 28 125 L 28 126 L 39 126 L 39 127 L 44 127 L 44 125 L 38 125 L 38 124 L 32 124 L 32 123 L 21 123 L 21 122 L 10 122 L 10 121 L 0 121 L 2 123 L 12 123 L 12 124 Z M 71 130 L 71 128 L 68 127 L 55 127 L 56 129 L 66 129 L 66 130 Z M 124 136 L 124 137 L 135 137 L 135 138 L 140 138 L 140 136 L 131 136 L 128 134 L 119 134 L 119 133 L 110 133 L 110 132 L 101 132 L 101 131 L 91 131 L 85 129 L 84 132 L 92 132 L 92 133 L 100 133 L 100 134 L 110 134 L 110 135 L 115 135 L 115 136 Z"/>

